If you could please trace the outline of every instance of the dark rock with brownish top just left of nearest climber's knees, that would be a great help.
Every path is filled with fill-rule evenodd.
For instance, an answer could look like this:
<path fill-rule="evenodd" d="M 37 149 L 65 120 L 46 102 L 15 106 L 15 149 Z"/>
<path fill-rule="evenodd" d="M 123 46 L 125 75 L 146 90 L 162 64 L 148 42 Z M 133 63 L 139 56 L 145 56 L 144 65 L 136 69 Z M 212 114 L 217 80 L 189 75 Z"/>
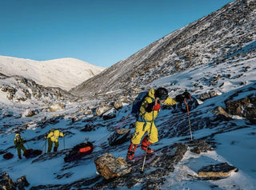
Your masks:
<path fill-rule="evenodd" d="M 115 133 L 108 138 L 110 146 L 122 144 L 126 141 L 130 141 L 129 138 L 130 129 L 117 129 Z"/>

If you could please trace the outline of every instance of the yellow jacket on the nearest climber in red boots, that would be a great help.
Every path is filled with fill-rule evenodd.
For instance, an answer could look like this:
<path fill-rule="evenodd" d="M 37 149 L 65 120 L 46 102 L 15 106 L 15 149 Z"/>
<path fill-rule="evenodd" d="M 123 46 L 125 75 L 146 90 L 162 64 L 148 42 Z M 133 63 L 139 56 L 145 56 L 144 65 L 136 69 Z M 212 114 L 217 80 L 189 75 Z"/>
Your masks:
<path fill-rule="evenodd" d="M 139 109 L 139 116 L 141 117 L 142 121 L 154 121 L 156 117 L 158 117 L 158 111 L 146 112 L 146 106 L 152 103 L 155 100 L 154 97 L 154 89 L 150 89 L 148 96 L 145 97 L 144 101 L 142 102 L 142 106 Z M 166 101 L 164 101 L 165 105 L 175 105 L 177 101 L 174 99 L 167 97 Z M 140 119 L 138 120 L 140 121 Z"/>

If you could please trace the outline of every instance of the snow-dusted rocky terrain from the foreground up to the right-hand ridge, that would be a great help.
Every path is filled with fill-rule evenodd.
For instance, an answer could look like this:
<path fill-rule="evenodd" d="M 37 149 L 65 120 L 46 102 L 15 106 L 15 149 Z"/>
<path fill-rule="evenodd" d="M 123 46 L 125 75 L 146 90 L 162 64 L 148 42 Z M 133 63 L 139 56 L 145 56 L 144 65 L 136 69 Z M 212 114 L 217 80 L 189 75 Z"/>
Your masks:
<path fill-rule="evenodd" d="M 30 184 L 25 189 L 32 190 L 256 189 L 255 6 L 252 0 L 232 2 L 104 70 L 84 83 L 92 85 L 88 90 L 97 96 L 76 97 L 25 77 L 0 74 L 0 185 L 2 172 L 7 172 L 14 181 L 26 176 Z M 215 34 L 223 36 L 215 38 Z M 173 54 L 174 47 L 178 50 Z M 186 57 L 191 50 L 198 56 Z M 168 60 L 177 62 L 172 65 Z M 158 65 L 150 65 L 155 61 Z M 124 70 L 134 77 L 126 81 Z M 76 93 L 84 95 L 83 85 Z M 96 158 L 106 152 L 126 157 L 136 121 L 129 115 L 134 98 L 143 89 L 159 86 L 168 89 L 170 97 L 187 89 L 198 105 L 191 107 L 190 117 L 184 104 L 162 106 L 155 121 L 159 141 L 150 145 L 155 155 L 146 156 L 143 173 L 141 158 L 124 176 L 110 180 L 99 176 Z M 190 128 L 194 141 L 190 141 Z M 44 137 L 50 129 L 59 129 L 66 137 L 59 138 L 58 152 L 45 153 Z M 130 129 L 118 144 L 113 143 L 116 129 Z M 42 150 L 42 155 L 18 160 L 15 133 L 26 139 L 26 148 Z M 94 144 L 94 151 L 65 162 L 65 156 L 85 137 Z M 197 147 L 198 141 L 210 148 Z M 14 158 L 3 159 L 6 152 Z M 137 148 L 135 156 L 144 155 Z M 238 171 L 217 179 L 199 176 L 202 167 L 220 163 Z"/>

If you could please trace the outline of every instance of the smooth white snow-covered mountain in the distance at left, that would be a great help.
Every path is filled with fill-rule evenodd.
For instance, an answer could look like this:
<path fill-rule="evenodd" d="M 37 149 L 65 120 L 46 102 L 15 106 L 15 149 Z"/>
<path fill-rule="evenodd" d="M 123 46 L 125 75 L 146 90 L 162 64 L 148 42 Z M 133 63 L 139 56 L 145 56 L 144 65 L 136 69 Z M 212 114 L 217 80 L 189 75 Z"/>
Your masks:
<path fill-rule="evenodd" d="M 22 76 L 39 85 L 69 90 L 101 73 L 104 68 L 75 58 L 34 61 L 16 57 L 0 56 L 0 73 Z"/>

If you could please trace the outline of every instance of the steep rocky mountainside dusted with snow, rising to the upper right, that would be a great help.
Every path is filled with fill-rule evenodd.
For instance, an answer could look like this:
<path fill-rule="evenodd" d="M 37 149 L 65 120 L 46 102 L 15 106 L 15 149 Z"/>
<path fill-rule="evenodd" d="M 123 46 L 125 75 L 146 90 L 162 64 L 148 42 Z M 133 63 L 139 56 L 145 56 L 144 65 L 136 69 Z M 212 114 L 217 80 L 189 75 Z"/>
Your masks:
<path fill-rule="evenodd" d="M 197 65 L 217 65 L 234 57 L 250 59 L 256 46 L 255 18 L 255 1 L 230 2 L 119 61 L 70 92 L 82 96 L 119 90 L 122 94 Z"/>

